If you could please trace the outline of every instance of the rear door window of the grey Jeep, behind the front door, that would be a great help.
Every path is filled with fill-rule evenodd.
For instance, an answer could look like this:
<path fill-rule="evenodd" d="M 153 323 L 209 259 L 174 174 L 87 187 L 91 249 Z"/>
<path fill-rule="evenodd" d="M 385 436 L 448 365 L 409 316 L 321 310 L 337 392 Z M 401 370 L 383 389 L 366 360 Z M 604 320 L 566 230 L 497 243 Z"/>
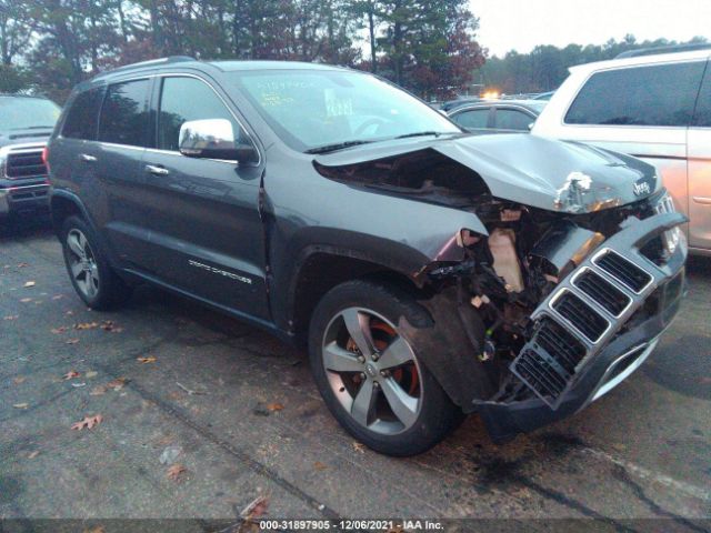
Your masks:
<path fill-rule="evenodd" d="M 99 140 L 146 147 L 150 80 L 109 86 L 101 107 Z"/>

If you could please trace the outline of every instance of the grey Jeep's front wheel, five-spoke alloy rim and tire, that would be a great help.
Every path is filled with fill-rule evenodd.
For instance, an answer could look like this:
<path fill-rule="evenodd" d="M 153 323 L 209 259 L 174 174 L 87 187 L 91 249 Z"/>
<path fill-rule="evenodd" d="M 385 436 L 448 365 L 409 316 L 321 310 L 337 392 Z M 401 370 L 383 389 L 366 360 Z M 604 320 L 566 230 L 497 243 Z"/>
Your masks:
<path fill-rule="evenodd" d="M 356 439 L 389 455 L 414 455 L 462 420 L 418 346 L 400 330 L 428 322 L 405 292 L 369 281 L 331 290 L 317 306 L 309 335 L 311 371 L 336 419 Z"/>

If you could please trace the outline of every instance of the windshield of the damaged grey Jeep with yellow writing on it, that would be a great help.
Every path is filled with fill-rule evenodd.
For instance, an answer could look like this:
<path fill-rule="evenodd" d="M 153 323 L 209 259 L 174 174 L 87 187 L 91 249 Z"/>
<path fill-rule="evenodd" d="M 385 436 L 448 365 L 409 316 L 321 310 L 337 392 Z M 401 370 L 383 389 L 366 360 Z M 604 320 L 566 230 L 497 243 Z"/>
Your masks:
<path fill-rule="evenodd" d="M 282 70 L 228 76 L 274 132 L 303 152 L 417 134 L 461 133 L 425 103 L 364 73 Z"/>

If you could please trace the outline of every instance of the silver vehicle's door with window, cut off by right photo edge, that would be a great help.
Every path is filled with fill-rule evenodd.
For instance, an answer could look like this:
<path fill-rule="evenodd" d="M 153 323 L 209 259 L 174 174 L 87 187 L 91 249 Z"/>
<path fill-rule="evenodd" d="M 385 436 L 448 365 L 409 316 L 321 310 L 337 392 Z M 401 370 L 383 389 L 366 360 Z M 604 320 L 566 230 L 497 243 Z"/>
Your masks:
<path fill-rule="evenodd" d="M 711 250 L 711 64 L 689 128 L 689 245 Z"/>

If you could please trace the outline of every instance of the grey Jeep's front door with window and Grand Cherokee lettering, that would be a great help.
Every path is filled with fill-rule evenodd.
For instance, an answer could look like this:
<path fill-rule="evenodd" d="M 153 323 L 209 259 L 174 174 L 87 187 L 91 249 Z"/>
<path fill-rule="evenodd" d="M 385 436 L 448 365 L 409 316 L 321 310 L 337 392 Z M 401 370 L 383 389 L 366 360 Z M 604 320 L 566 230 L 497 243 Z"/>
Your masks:
<path fill-rule="evenodd" d="M 186 121 L 227 119 L 236 138 L 247 133 L 207 81 L 167 76 L 157 83 L 156 149 L 141 162 L 150 270 L 193 295 L 266 319 L 262 165 L 182 155 L 178 140 Z"/>

